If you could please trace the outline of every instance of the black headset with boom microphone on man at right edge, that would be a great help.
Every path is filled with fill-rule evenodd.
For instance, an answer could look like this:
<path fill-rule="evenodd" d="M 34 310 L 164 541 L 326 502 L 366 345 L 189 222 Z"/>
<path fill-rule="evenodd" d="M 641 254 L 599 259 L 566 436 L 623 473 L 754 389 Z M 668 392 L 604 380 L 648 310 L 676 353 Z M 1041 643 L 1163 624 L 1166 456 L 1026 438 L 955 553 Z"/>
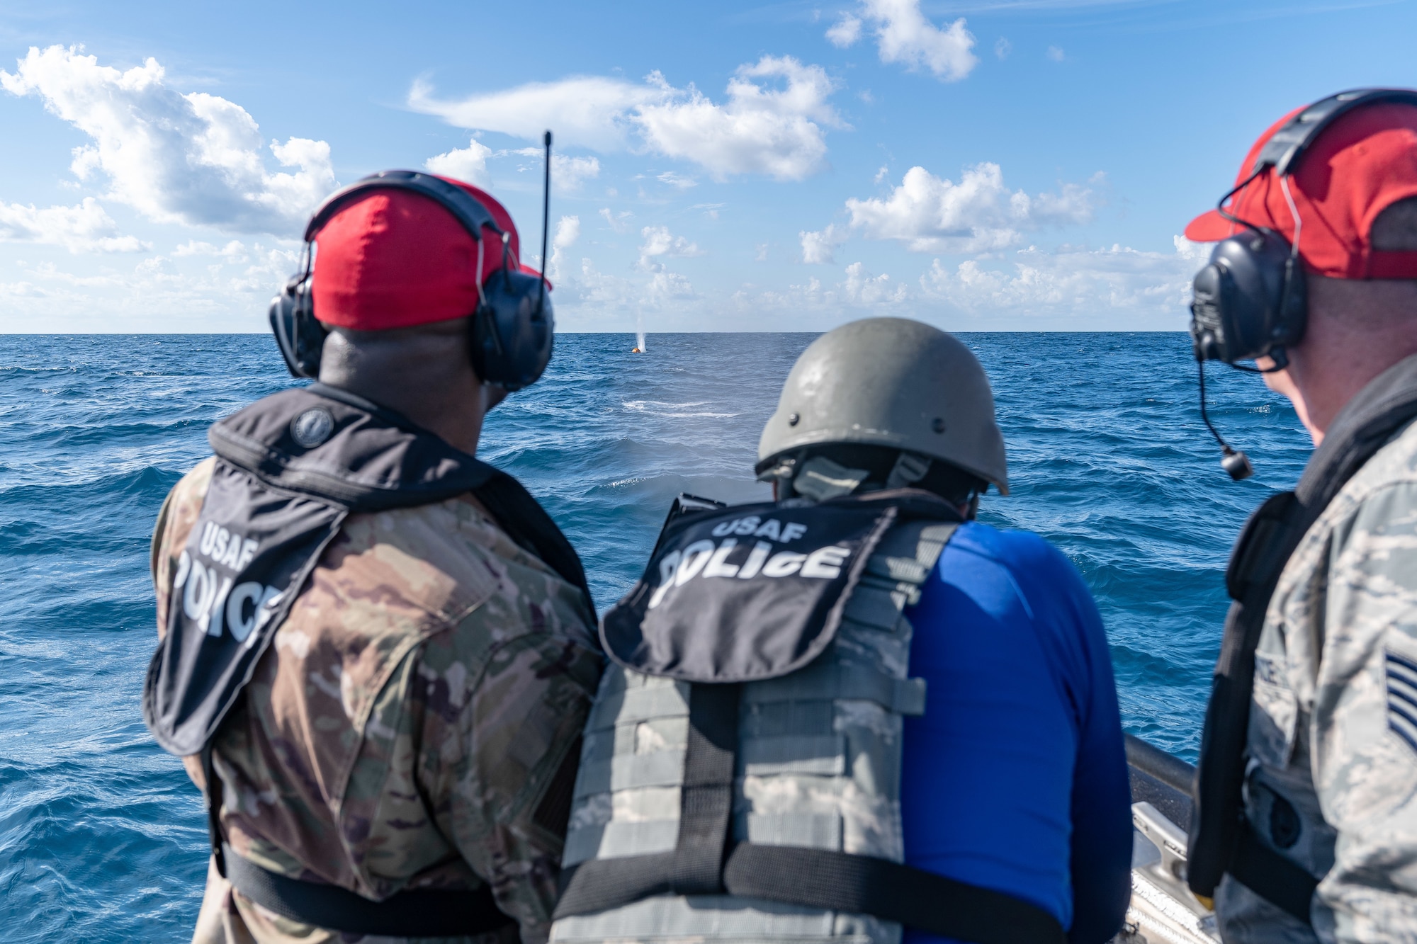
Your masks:
<path fill-rule="evenodd" d="M 1220 215 L 1244 227 L 1216 244 L 1210 262 L 1192 283 L 1190 339 L 1200 369 L 1200 418 L 1220 444 L 1221 468 L 1230 478 L 1248 478 L 1254 468 L 1244 452 L 1231 449 L 1206 415 L 1207 360 L 1221 360 L 1231 367 L 1255 373 L 1282 370 L 1289 364 L 1287 347 L 1304 340 L 1308 322 L 1308 289 L 1299 259 L 1302 220 L 1289 194 L 1289 177 L 1325 128 L 1355 108 L 1377 102 L 1417 105 L 1417 92 L 1373 88 L 1339 92 L 1318 101 L 1274 132 L 1264 143 L 1250 174 L 1220 197 Z M 1294 244 L 1280 232 L 1247 223 L 1226 208 L 1226 201 L 1244 190 L 1255 177 L 1274 167 L 1275 177 L 1294 218 Z M 1274 366 L 1261 371 L 1241 360 L 1268 356 Z"/>

